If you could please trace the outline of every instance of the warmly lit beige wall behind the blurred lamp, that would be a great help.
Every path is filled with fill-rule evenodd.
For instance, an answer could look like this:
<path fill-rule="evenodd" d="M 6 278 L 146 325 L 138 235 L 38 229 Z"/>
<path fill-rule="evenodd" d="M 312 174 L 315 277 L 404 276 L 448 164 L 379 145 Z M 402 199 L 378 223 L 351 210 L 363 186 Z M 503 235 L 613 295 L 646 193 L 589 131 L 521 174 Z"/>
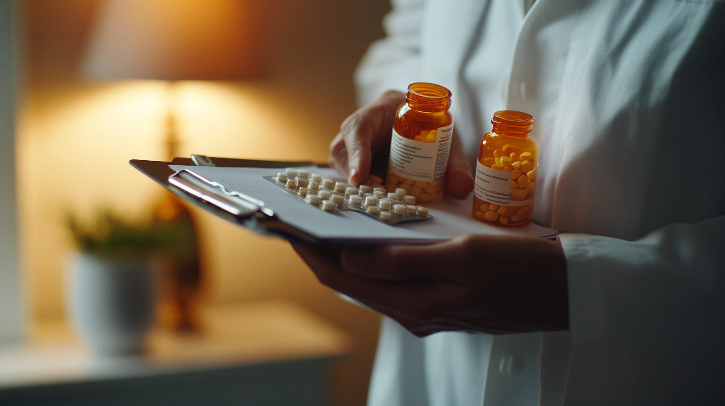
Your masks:
<path fill-rule="evenodd" d="M 382 36 L 384 0 L 254 1 L 270 70 L 250 80 L 182 82 L 180 155 L 326 160 L 355 109 L 352 71 Z M 160 188 L 129 159 L 162 159 L 164 84 L 85 83 L 76 70 L 97 0 L 22 1 L 25 70 L 18 123 L 20 231 L 32 318 L 61 318 L 66 210 L 147 210 Z M 205 212 L 199 219 L 212 302 L 294 299 L 348 331 L 336 403 L 363 405 L 378 316 L 320 286 L 290 249 Z"/>

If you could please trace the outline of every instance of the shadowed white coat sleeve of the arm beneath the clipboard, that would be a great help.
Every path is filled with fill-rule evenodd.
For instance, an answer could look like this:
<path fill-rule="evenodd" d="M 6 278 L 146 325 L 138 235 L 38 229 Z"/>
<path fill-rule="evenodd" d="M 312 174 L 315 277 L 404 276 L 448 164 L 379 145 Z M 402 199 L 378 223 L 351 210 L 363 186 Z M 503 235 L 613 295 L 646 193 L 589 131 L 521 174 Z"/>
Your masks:
<path fill-rule="evenodd" d="M 563 234 L 565 405 L 725 404 L 725 216 L 637 241 Z"/>

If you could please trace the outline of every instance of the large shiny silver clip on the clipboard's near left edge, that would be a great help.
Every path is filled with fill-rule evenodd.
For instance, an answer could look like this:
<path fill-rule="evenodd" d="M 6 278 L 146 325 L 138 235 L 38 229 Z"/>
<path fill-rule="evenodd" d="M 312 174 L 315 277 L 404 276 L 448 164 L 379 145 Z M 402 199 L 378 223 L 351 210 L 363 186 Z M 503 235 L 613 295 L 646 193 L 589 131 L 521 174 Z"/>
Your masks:
<path fill-rule="evenodd" d="M 320 242 L 309 233 L 279 220 L 273 210 L 266 207 L 260 199 L 238 191 L 229 191 L 221 183 L 210 181 L 191 170 L 182 169 L 170 175 L 169 183 L 182 197 L 199 206 L 212 207 L 215 212 L 234 223 L 285 239 Z"/>

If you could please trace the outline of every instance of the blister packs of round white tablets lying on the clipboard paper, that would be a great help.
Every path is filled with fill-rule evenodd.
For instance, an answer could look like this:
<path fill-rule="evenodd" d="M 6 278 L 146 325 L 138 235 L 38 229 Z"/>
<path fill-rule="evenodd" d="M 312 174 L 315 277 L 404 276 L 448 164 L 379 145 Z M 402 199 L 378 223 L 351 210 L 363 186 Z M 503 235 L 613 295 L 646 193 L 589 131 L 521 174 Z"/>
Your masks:
<path fill-rule="evenodd" d="M 402 188 L 389 193 L 380 187 L 352 186 L 294 167 L 263 178 L 326 212 L 355 210 L 387 224 L 433 218 L 426 207 L 415 205 L 415 197 L 407 195 Z"/>

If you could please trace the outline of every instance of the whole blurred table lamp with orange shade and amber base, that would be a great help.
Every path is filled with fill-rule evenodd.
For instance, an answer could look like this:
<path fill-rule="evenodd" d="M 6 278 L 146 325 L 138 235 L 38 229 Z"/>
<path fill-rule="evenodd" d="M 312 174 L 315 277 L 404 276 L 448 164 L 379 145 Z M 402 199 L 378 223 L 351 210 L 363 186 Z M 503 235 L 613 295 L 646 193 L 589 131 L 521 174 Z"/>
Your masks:
<path fill-rule="evenodd" d="M 82 72 L 90 80 L 166 80 L 165 158 L 178 153 L 178 81 L 234 80 L 264 70 L 249 0 L 104 0 L 91 31 Z M 175 231 L 165 283 L 162 324 L 194 331 L 193 302 L 201 275 L 191 213 L 173 194 L 154 207 L 154 221 Z"/>

